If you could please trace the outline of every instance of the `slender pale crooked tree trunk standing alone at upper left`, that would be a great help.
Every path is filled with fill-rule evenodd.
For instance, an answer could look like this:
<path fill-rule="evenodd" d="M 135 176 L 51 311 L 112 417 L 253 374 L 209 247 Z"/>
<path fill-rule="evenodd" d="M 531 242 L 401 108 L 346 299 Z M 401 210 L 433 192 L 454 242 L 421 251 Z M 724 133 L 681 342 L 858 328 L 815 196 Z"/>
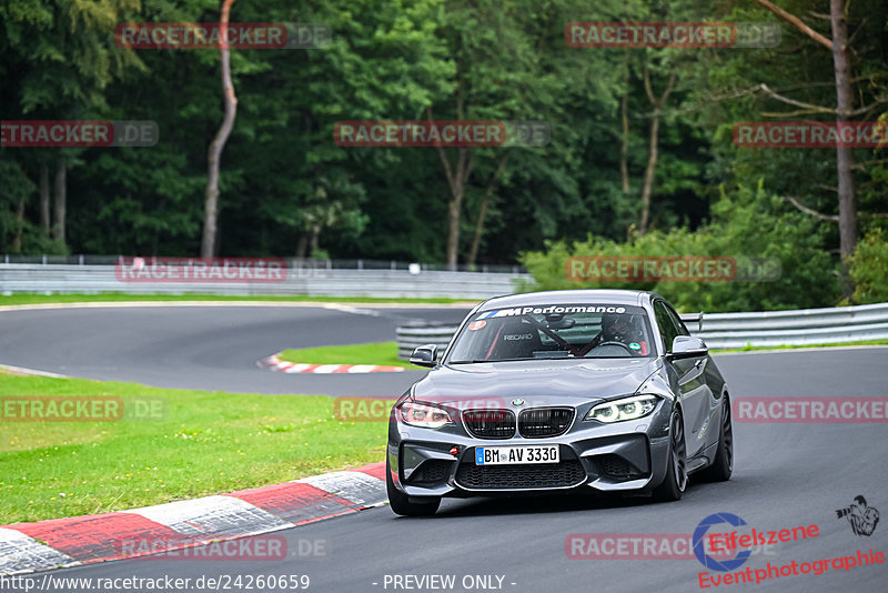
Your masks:
<path fill-rule="evenodd" d="M 222 14 L 219 19 L 219 33 L 221 48 L 219 49 L 222 66 L 222 92 L 225 101 L 225 117 L 219 128 L 206 155 L 206 200 L 203 207 L 203 240 L 201 242 L 201 257 L 212 258 L 215 253 L 216 231 L 219 223 L 219 171 L 222 150 L 234 128 L 234 118 L 238 113 L 238 98 L 234 96 L 234 84 L 231 81 L 231 60 L 228 46 L 229 17 L 231 6 L 235 0 L 224 0 Z"/>

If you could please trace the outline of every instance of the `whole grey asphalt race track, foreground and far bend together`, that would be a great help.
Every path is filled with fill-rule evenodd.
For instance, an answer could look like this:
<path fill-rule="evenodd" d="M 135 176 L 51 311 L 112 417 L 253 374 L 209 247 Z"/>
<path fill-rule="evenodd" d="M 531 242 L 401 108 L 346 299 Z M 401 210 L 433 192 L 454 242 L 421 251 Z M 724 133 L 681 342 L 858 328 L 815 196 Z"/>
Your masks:
<path fill-rule="evenodd" d="M 0 364 L 160 386 L 264 393 L 401 392 L 421 372 L 287 375 L 255 368 L 284 348 L 394 339 L 406 319 L 458 320 L 458 310 L 377 310 L 379 316 L 326 309 L 147 308 L 0 313 Z M 886 396 L 888 349 L 842 349 L 716 356 L 733 398 Z M 692 534 L 704 517 L 733 513 L 758 531 L 816 524 L 817 537 L 780 543 L 747 566 L 815 562 L 888 551 L 888 519 L 856 535 L 837 509 L 855 496 L 888 512 L 886 424 L 735 422 L 736 461 L 727 483 L 696 483 L 677 503 L 620 497 L 515 497 L 447 501 L 433 517 L 396 517 L 386 506 L 278 532 L 291 557 L 263 562 L 118 561 L 53 571 L 70 577 L 309 575 L 307 591 L 700 591 L 695 559 L 574 560 L 574 533 Z M 304 553 L 313 546 L 323 553 Z M 714 573 L 709 574 L 724 574 Z M 387 575 L 387 576 L 386 576 Z M 452 587 L 418 589 L 394 575 L 454 575 Z M 492 575 L 492 576 L 486 576 Z M 475 577 L 478 579 L 475 579 Z M 486 580 L 483 579 L 486 576 Z M 34 580 L 39 581 L 42 574 Z M 500 581 L 498 577 L 502 577 Z M 242 581 L 245 583 L 245 581 Z M 888 563 L 830 567 L 759 585 L 708 590 L 855 591 L 888 589 Z M 434 584 L 442 583 L 435 581 Z M 410 585 L 407 589 L 406 585 Z M 225 590 L 225 589 L 222 589 Z M 245 591 L 231 585 L 229 591 Z M 254 590 L 255 584 L 254 584 Z M 284 591 L 264 589 L 264 591 Z"/>

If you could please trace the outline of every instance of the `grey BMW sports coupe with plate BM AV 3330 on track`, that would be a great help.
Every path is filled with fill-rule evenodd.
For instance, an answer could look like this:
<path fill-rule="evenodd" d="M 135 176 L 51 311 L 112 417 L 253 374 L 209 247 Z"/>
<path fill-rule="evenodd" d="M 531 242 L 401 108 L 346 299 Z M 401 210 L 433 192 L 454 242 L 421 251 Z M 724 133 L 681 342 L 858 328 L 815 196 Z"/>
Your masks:
<path fill-rule="evenodd" d="M 433 514 L 442 496 L 572 489 L 675 501 L 690 473 L 730 478 L 727 384 L 659 294 L 497 296 L 443 354 L 422 346 L 411 362 L 432 371 L 391 412 L 400 515 Z"/>

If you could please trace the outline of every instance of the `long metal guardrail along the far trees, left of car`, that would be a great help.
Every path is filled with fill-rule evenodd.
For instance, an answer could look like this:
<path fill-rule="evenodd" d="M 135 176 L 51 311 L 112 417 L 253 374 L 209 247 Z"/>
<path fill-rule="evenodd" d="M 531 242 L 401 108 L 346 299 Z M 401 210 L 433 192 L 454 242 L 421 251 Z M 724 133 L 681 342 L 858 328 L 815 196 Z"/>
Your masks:
<path fill-rule="evenodd" d="M 0 260 L 1 261 L 1 260 Z M 313 295 L 375 298 L 447 298 L 483 300 L 515 292 L 512 272 L 448 272 L 420 269 L 287 268 L 282 282 L 123 282 L 114 265 L 0 263 L 0 294 L 123 292 L 128 294 Z"/>

